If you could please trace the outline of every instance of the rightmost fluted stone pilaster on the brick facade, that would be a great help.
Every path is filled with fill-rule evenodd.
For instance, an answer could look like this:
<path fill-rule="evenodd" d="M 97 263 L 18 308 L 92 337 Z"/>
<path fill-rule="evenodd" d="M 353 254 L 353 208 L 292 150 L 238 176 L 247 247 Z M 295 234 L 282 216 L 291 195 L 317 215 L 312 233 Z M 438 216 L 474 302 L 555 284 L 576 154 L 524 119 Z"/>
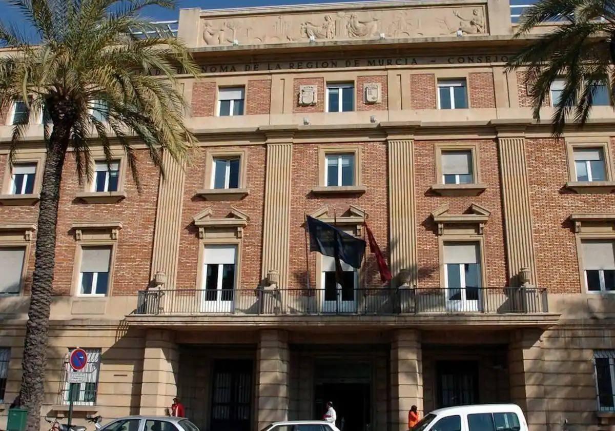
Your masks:
<path fill-rule="evenodd" d="M 530 268 L 531 283 L 536 284 L 525 138 L 499 136 L 498 141 L 510 284 L 520 285 L 518 273 L 523 267 Z"/>

